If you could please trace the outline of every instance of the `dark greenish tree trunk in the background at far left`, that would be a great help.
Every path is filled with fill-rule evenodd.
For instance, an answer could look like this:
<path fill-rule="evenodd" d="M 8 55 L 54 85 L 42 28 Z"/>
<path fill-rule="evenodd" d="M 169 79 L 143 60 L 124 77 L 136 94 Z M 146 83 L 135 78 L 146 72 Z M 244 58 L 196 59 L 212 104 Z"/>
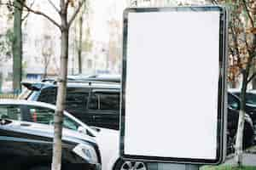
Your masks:
<path fill-rule="evenodd" d="M 15 0 L 15 20 L 14 20 L 14 40 L 13 40 L 13 89 L 15 93 L 20 93 L 22 78 L 22 33 L 21 33 L 21 17 L 20 3 Z"/>

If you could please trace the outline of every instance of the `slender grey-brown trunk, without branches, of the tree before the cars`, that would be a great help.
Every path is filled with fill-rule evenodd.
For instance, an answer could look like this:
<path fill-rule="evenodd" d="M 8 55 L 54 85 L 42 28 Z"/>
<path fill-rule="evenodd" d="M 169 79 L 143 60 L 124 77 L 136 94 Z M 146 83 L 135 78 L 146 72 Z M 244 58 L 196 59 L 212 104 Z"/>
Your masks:
<path fill-rule="evenodd" d="M 65 109 L 68 61 L 67 14 L 61 14 L 61 70 L 58 78 L 58 92 L 55 111 L 55 135 L 53 146 L 52 170 L 61 170 L 61 134 L 63 111 Z"/>

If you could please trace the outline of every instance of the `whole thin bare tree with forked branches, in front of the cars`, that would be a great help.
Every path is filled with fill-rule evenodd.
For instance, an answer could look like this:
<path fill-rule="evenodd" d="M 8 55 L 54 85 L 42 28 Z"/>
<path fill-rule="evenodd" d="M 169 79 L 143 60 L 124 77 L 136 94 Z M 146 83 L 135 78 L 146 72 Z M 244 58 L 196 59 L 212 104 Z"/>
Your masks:
<path fill-rule="evenodd" d="M 17 2 L 17 3 L 16 3 Z M 59 7 L 55 5 L 51 0 L 48 0 L 49 4 L 55 8 L 55 12 L 59 14 L 61 23 L 58 23 L 47 12 L 39 11 L 29 7 L 23 0 L 15 0 L 14 3 L 9 2 L 9 5 L 14 6 L 33 14 L 38 14 L 49 20 L 52 24 L 57 26 L 61 31 L 61 69 L 58 77 L 58 91 L 56 100 L 56 111 L 54 117 L 54 142 L 53 142 L 53 158 L 51 169 L 61 170 L 61 136 L 62 136 L 62 122 L 63 111 L 65 109 L 66 88 L 67 88 L 67 61 L 68 61 L 68 34 L 69 28 L 73 23 L 73 20 L 79 14 L 80 8 L 83 6 L 85 0 L 60 0 Z M 20 8 L 22 7 L 22 8 Z M 70 17 L 67 16 L 67 9 L 73 7 L 73 14 Z"/>

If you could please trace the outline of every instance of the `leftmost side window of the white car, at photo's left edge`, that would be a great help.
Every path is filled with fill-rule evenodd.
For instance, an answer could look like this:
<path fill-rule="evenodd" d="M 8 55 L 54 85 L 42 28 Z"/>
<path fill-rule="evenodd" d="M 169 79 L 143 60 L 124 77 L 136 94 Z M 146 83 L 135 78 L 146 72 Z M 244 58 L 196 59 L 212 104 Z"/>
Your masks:
<path fill-rule="evenodd" d="M 0 105 L 0 118 L 20 121 L 21 111 L 19 105 Z"/>

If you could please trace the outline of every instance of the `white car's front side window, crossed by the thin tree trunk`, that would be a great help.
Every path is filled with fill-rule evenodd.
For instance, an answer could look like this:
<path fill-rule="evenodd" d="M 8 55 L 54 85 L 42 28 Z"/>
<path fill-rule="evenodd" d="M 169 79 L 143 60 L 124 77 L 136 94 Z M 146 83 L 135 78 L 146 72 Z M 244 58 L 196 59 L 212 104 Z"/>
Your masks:
<path fill-rule="evenodd" d="M 53 125 L 55 111 L 49 108 L 29 106 L 29 112 L 32 122 Z M 71 118 L 64 116 L 63 127 L 78 130 L 79 123 L 73 121 Z"/>

